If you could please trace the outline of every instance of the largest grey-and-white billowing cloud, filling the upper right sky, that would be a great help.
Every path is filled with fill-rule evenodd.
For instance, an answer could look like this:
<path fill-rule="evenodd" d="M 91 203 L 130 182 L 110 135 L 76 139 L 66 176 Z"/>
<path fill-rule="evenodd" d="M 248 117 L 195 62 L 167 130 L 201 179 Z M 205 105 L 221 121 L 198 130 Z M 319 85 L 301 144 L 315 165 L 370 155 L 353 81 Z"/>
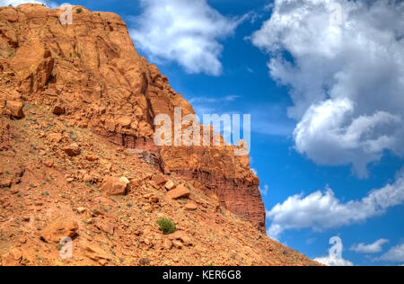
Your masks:
<path fill-rule="evenodd" d="M 299 153 L 360 177 L 383 151 L 404 155 L 404 2 L 275 0 L 251 40 L 290 87 Z"/>

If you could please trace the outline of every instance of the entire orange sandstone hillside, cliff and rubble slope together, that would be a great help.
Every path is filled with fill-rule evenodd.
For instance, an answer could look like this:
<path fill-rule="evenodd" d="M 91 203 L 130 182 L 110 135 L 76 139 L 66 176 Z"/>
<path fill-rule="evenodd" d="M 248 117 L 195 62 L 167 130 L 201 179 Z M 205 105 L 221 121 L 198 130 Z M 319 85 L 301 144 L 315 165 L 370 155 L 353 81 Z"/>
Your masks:
<path fill-rule="evenodd" d="M 192 106 L 118 15 L 73 11 L 62 25 L 40 4 L 0 8 L 2 264 L 315 264 L 262 234 L 248 156 L 154 144 L 154 118 Z M 62 262 L 63 236 L 75 258 Z"/>

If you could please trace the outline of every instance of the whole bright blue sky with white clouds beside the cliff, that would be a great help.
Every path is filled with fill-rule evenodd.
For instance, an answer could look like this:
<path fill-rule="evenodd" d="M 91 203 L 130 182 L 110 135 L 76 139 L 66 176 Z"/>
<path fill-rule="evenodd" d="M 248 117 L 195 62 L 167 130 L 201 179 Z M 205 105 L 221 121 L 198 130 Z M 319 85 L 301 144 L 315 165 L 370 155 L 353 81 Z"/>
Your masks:
<path fill-rule="evenodd" d="M 189 28 L 184 15 L 171 26 L 180 31 L 136 49 L 198 114 L 251 114 L 251 167 L 259 174 L 268 234 L 311 258 L 327 257 L 329 238 L 337 235 L 343 264 L 400 265 L 404 8 L 330 2 L 70 1 L 119 13 L 135 42 L 169 28 L 160 21 L 162 3 L 198 18 Z M 329 23 L 339 7 L 341 22 Z M 324 30 L 334 24 L 334 34 Z M 184 54 L 181 42 L 186 50 L 205 49 Z"/>

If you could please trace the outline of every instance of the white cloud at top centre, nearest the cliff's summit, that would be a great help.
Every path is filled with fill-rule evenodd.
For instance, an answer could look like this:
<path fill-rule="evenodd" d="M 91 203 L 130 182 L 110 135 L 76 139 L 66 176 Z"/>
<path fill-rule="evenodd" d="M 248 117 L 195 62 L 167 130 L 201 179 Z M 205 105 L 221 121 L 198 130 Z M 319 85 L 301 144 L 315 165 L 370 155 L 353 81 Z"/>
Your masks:
<path fill-rule="evenodd" d="M 130 35 L 152 61 L 177 62 L 191 74 L 220 75 L 220 40 L 242 19 L 225 17 L 206 0 L 142 0 Z"/>

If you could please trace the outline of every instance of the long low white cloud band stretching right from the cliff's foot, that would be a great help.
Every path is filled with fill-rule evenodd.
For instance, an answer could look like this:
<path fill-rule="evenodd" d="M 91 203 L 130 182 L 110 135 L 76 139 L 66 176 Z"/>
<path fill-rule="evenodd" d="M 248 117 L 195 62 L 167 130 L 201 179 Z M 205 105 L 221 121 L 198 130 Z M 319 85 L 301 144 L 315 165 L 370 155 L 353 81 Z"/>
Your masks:
<path fill-rule="evenodd" d="M 310 195 L 297 194 L 278 203 L 267 212 L 268 235 L 278 238 L 285 230 L 349 226 L 381 216 L 387 209 L 404 203 L 404 171 L 394 183 L 370 191 L 362 200 L 341 202 L 334 191 L 316 191 Z"/>

